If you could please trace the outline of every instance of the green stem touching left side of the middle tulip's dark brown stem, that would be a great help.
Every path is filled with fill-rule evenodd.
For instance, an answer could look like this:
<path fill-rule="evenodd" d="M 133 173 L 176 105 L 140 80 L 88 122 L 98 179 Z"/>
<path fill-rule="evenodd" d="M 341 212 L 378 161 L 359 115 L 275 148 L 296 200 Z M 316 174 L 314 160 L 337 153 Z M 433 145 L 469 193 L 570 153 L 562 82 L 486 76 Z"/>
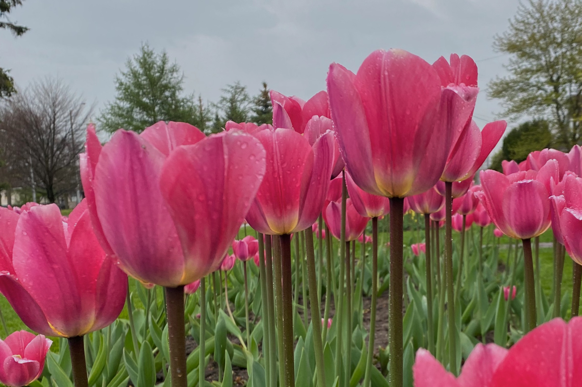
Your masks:
<path fill-rule="evenodd" d="M 281 387 L 292 387 L 287 384 L 286 379 L 286 361 L 285 358 L 285 332 L 283 332 L 283 324 L 285 317 L 283 316 L 283 273 L 281 267 L 281 238 L 278 235 L 272 236 L 273 238 L 273 278 L 275 280 L 275 302 L 276 302 L 276 312 L 277 312 L 277 343 L 279 350 L 279 386 Z M 288 307 L 291 306 L 289 303 Z M 293 312 L 293 310 L 292 310 Z M 294 376 L 294 375 L 293 375 Z"/>

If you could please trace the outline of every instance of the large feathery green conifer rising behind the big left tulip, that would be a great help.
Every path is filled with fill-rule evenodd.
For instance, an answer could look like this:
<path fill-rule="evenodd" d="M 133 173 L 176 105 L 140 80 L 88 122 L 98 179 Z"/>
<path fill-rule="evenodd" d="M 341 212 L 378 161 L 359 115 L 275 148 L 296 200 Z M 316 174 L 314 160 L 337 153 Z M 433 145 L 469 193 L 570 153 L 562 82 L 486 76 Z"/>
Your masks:
<path fill-rule="evenodd" d="M 165 51 L 157 54 L 147 44 L 127 59 L 126 70 L 115 77 L 117 95 L 105 106 L 99 121 L 108 132 L 120 127 L 141 132 L 154 123 L 188 122 L 204 130 L 208 108 L 194 94 L 183 95 L 184 75 Z"/>

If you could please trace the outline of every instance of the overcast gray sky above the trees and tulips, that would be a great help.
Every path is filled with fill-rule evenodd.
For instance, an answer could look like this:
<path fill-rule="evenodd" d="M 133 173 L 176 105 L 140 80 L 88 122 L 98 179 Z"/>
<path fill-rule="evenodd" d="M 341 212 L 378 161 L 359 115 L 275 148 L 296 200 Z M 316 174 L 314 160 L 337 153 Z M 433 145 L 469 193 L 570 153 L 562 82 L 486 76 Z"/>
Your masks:
<path fill-rule="evenodd" d="M 10 19 L 30 27 L 20 38 L 0 31 L 0 66 L 19 87 L 46 75 L 66 81 L 97 112 L 115 95 L 113 79 L 141 42 L 166 49 L 185 89 L 216 101 L 240 80 L 261 81 L 307 100 L 325 88 L 329 63 L 354 72 L 378 48 L 403 48 L 432 63 L 451 52 L 473 57 L 481 92 L 480 127 L 501 108 L 487 83 L 505 74 L 492 50 L 518 0 L 26 0 Z"/>

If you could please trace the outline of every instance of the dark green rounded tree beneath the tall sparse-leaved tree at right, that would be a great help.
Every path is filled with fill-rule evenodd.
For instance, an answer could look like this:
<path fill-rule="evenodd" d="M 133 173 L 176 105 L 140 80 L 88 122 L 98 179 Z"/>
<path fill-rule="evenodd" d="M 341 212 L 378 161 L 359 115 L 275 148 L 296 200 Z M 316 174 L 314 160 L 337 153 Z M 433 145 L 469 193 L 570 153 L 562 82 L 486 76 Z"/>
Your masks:
<path fill-rule="evenodd" d="M 503 139 L 503 146 L 492 161 L 491 169 L 501 171 L 503 160 L 524 161 L 533 151 L 539 151 L 552 145 L 552 133 L 544 120 L 528 121 L 520 124 Z"/>

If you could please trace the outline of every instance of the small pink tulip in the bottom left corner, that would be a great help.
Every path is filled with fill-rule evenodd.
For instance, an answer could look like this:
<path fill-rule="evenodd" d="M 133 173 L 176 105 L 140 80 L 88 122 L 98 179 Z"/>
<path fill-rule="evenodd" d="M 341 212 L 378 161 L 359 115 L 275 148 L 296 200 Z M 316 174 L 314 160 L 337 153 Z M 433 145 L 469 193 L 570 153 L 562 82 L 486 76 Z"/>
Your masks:
<path fill-rule="evenodd" d="M 0 382 L 8 387 L 22 387 L 36 381 L 51 345 L 52 341 L 44 335 L 26 331 L 0 340 Z"/>

